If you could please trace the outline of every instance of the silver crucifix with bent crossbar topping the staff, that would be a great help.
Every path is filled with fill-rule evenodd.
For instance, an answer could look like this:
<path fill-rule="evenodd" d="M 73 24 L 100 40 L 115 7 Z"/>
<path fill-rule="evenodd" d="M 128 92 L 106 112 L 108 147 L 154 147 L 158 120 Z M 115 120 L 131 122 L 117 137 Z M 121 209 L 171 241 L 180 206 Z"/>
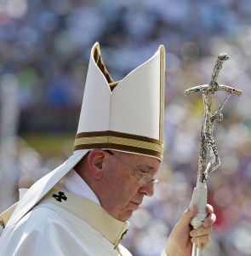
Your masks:
<path fill-rule="evenodd" d="M 214 172 L 218 168 L 218 166 L 220 166 L 220 156 L 213 135 L 214 123 L 216 120 L 223 120 L 223 114 L 220 112 L 224 107 L 225 102 L 231 96 L 231 93 L 236 94 L 237 96 L 242 95 L 241 90 L 237 90 L 227 85 L 218 84 L 217 82 L 222 65 L 224 61 L 228 60 L 229 58 L 230 57 L 226 53 L 221 53 L 220 55 L 218 55 L 209 84 L 198 85 L 188 90 L 185 90 L 185 95 L 189 95 L 197 91 L 203 94 L 204 108 L 200 137 L 200 152 L 198 160 L 198 181 L 201 183 L 206 183 L 209 174 L 211 172 Z M 225 90 L 229 94 L 225 97 L 224 102 L 220 104 L 220 107 L 214 113 L 211 113 L 213 96 L 214 93 L 218 90 Z M 210 160 L 208 160 L 207 163 L 208 154 Z"/>

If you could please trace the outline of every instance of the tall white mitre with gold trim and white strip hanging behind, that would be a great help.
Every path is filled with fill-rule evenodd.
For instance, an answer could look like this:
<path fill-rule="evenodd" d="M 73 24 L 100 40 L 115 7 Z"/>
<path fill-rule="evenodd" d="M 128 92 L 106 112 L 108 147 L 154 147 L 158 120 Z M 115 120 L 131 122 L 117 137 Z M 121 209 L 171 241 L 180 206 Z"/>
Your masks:
<path fill-rule="evenodd" d="M 93 148 L 114 149 L 163 159 L 165 49 L 120 81 L 113 81 L 94 44 L 88 66 L 74 152 L 26 192 L 8 226 L 40 201 Z"/>

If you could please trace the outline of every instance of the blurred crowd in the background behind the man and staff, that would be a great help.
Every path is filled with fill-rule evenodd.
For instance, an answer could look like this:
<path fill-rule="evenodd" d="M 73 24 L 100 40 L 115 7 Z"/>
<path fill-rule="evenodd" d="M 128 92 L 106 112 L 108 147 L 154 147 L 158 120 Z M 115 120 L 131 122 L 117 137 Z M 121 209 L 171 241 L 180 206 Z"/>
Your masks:
<path fill-rule="evenodd" d="M 214 127 L 221 166 L 208 180 L 217 222 L 203 255 L 251 255 L 251 4 L 248 0 L 1 0 L 0 210 L 72 153 L 92 45 L 122 79 L 164 44 L 165 156 L 154 197 L 130 219 L 123 244 L 157 256 L 189 207 L 197 180 L 201 94 L 221 52 L 219 83 L 242 90 Z M 214 108 L 225 98 L 215 95 Z"/>

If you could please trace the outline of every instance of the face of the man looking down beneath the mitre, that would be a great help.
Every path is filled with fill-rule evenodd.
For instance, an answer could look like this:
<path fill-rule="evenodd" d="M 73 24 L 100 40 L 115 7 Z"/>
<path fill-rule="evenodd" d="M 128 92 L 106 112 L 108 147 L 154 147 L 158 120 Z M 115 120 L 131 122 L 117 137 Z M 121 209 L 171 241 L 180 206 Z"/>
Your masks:
<path fill-rule="evenodd" d="M 142 172 L 149 172 L 152 176 L 157 173 L 160 161 L 151 157 L 116 152 L 117 156 Z M 142 177 L 139 172 L 117 160 L 113 155 L 107 158 L 106 173 L 100 183 L 99 199 L 102 207 L 118 220 L 130 218 L 143 201 L 144 195 L 153 195 L 152 182 L 140 186 Z"/>

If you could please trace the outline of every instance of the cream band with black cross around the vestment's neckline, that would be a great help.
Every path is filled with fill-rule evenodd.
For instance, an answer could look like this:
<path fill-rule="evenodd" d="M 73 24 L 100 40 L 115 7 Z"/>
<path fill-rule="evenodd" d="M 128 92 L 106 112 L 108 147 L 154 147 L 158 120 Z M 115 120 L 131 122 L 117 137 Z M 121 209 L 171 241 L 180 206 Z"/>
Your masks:
<path fill-rule="evenodd" d="M 105 236 L 117 248 L 128 231 L 128 221 L 113 218 L 106 210 L 86 197 L 66 191 L 60 185 L 51 189 L 43 201 L 65 208 Z"/>

